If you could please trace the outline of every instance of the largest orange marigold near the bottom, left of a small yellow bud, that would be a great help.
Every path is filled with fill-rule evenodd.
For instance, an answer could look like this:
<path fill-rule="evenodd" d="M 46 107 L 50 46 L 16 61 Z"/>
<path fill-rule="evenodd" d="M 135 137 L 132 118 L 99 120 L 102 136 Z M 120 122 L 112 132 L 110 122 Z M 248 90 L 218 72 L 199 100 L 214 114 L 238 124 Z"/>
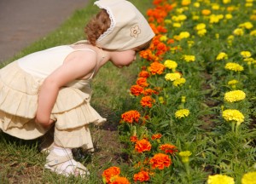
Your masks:
<path fill-rule="evenodd" d="M 158 168 L 159 170 L 164 170 L 165 167 L 169 167 L 172 164 L 172 160 L 169 155 L 164 153 L 157 153 L 153 158 L 150 158 L 149 164 L 152 165 L 152 168 Z"/>

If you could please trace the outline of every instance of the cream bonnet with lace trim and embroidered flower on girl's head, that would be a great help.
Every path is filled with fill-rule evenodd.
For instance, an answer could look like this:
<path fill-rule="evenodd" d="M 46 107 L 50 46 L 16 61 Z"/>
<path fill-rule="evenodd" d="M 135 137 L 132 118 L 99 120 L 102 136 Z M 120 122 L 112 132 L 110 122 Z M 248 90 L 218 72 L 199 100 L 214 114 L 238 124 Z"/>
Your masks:
<path fill-rule="evenodd" d="M 99 0 L 95 4 L 106 9 L 111 25 L 97 40 L 103 49 L 134 49 L 154 37 L 154 32 L 138 9 L 125 0 Z"/>

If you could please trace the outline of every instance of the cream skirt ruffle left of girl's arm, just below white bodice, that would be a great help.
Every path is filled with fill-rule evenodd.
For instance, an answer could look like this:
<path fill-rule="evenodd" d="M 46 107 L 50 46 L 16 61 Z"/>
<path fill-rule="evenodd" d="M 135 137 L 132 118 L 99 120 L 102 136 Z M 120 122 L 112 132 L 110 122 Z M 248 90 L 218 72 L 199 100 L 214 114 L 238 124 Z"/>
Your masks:
<path fill-rule="evenodd" d="M 43 80 L 33 78 L 11 63 L 0 70 L 0 110 L 23 118 L 34 118 L 38 90 Z"/>

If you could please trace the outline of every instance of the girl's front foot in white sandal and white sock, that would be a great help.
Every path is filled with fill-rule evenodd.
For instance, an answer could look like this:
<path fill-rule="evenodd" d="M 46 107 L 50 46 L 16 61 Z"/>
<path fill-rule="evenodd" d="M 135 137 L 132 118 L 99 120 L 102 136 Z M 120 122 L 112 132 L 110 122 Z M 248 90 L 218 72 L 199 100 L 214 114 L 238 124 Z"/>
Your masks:
<path fill-rule="evenodd" d="M 64 163 L 67 163 L 69 161 L 69 164 L 66 168 L 61 168 L 61 166 Z M 69 167 L 72 167 L 72 171 L 68 171 Z M 83 164 L 75 161 L 73 159 L 73 155 L 67 154 L 65 156 L 58 156 L 55 154 L 55 152 L 50 152 L 49 156 L 46 158 L 46 164 L 44 165 L 44 168 L 51 170 L 59 175 L 75 175 L 75 176 L 86 176 L 90 175 L 89 170 L 87 170 L 86 167 L 84 167 Z"/>

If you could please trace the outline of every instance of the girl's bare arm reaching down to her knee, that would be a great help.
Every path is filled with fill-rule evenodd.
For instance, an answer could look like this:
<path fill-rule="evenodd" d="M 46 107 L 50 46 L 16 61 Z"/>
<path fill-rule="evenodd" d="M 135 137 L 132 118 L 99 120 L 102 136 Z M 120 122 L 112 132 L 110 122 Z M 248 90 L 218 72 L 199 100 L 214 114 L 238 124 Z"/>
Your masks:
<path fill-rule="evenodd" d="M 65 84 L 75 79 L 83 78 L 96 67 L 96 54 L 90 51 L 76 51 L 67 56 L 63 65 L 52 72 L 48 78 L 45 78 L 38 94 L 38 110 L 36 122 L 43 126 L 49 126 L 53 123 L 50 113 L 59 90 Z"/>

